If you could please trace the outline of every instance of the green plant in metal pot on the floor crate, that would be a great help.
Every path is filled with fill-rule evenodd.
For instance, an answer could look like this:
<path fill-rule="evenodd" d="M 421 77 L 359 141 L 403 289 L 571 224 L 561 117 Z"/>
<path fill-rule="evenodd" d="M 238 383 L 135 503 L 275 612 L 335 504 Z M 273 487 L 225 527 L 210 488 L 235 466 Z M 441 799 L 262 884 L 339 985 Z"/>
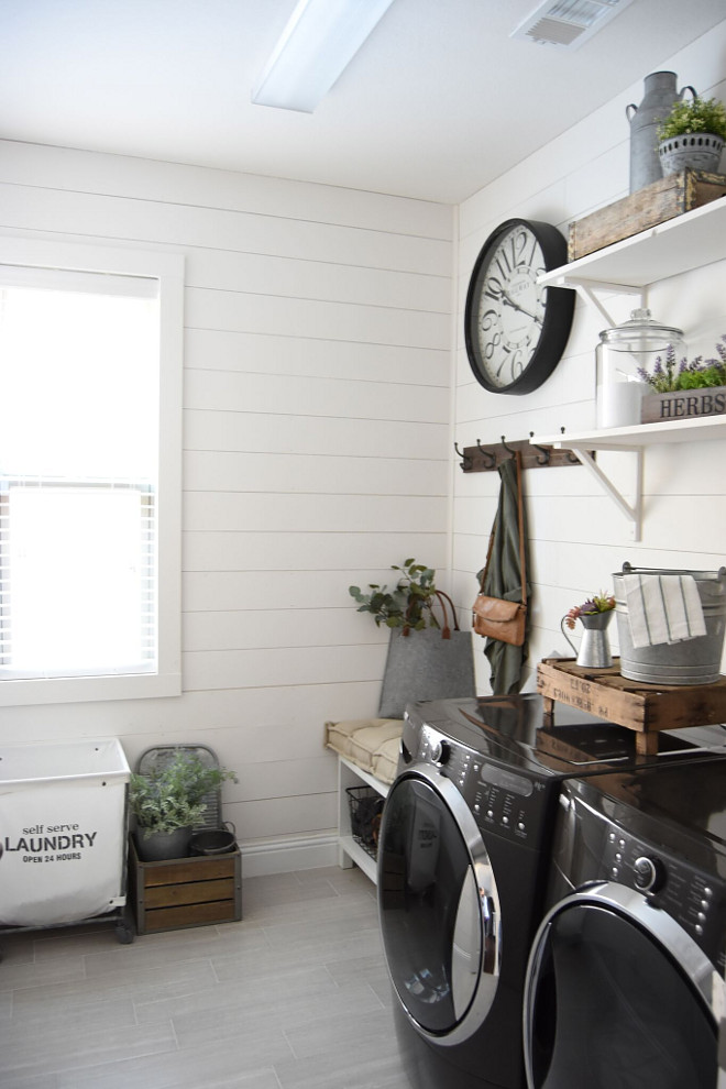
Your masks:
<path fill-rule="evenodd" d="M 129 806 L 136 821 L 136 853 L 142 861 L 184 858 L 193 828 L 207 811 L 205 795 L 234 772 L 208 768 L 195 752 L 179 749 L 148 774 L 132 772 Z"/>

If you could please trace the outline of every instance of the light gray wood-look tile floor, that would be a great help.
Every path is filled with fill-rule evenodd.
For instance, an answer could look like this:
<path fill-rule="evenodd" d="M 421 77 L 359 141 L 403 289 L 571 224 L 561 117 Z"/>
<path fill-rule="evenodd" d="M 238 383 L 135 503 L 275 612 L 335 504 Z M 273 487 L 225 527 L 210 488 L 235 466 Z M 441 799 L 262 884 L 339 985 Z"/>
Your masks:
<path fill-rule="evenodd" d="M 0 935 L 2 1089 L 409 1089 L 367 878 L 245 879 L 243 914 Z"/>

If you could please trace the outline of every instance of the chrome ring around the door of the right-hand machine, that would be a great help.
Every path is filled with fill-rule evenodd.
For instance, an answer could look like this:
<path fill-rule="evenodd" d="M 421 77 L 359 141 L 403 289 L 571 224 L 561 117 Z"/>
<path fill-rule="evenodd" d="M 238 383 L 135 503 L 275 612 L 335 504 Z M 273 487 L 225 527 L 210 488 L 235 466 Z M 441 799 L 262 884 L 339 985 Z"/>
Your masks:
<path fill-rule="evenodd" d="M 553 920 L 563 911 L 578 905 L 609 909 L 637 924 L 639 930 L 645 931 L 657 945 L 666 950 L 670 960 L 676 963 L 693 989 L 704 1000 L 716 1027 L 718 1027 L 722 1018 L 726 1015 L 726 982 L 701 946 L 672 915 L 656 908 L 647 897 L 636 889 L 628 889 L 627 886 L 613 881 L 601 881 L 597 884 L 587 886 L 560 900 L 548 911 L 535 935 L 529 954 L 522 1005 L 525 1071 L 528 1089 L 536 1089 L 529 1046 L 534 1022 L 534 980 L 539 977 L 544 946 Z"/>

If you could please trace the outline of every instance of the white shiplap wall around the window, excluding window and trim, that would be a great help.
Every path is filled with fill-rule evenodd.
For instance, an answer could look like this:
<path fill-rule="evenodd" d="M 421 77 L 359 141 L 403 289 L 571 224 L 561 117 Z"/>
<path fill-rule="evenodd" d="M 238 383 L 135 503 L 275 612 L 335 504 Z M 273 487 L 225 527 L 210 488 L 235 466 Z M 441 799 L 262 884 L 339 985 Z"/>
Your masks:
<path fill-rule="evenodd" d="M 0 143 L 0 230 L 183 253 L 184 694 L 0 712 L 0 744 L 198 741 L 245 873 L 334 858 L 328 718 L 377 710 L 351 583 L 450 542 L 453 210 Z M 130 435 L 132 428 L 130 429 Z"/>

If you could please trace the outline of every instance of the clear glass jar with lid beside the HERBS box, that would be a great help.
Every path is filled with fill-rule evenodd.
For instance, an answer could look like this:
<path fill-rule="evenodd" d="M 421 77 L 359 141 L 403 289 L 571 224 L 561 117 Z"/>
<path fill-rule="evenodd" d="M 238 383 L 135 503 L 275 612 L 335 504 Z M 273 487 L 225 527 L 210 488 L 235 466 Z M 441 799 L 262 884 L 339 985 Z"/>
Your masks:
<path fill-rule="evenodd" d="M 597 427 L 629 427 L 640 422 L 640 403 L 649 386 L 639 374 L 652 374 L 669 350 L 681 360 L 686 354 L 681 329 L 662 326 L 650 310 L 632 310 L 629 321 L 604 329 L 595 351 L 597 360 Z"/>

